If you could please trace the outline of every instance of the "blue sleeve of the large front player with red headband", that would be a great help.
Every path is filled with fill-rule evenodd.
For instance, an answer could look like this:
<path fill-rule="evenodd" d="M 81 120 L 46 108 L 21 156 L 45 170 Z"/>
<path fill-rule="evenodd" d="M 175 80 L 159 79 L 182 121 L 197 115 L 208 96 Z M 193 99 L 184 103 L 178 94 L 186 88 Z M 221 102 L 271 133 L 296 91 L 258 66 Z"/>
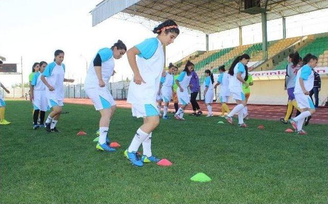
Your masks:
<path fill-rule="evenodd" d="M 148 38 L 148 39 L 144 40 L 143 42 L 137 44 L 135 47 L 140 52 L 138 54 L 139 57 L 144 57 L 145 59 L 150 59 L 157 50 L 158 39 L 156 37 Z"/>

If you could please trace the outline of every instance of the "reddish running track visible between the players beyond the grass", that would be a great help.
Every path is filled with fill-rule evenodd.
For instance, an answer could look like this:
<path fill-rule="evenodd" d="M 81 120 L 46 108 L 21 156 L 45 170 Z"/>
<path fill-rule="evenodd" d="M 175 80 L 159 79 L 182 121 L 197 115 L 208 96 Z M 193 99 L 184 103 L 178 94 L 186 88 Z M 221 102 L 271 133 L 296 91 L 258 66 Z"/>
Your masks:
<path fill-rule="evenodd" d="M 65 103 L 74 103 L 74 104 L 89 104 L 92 105 L 90 99 L 64 99 Z M 127 103 L 126 100 L 117 100 L 115 101 L 117 107 L 120 108 L 131 108 L 131 104 Z M 207 108 L 203 101 L 198 101 L 200 109 L 204 114 L 207 114 Z M 235 107 L 236 104 L 229 104 L 230 110 Z M 174 106 L 173 103 L 169 105 L 169 111 L 173 111 Z M 264 120 L 276 120 L 278 121 L 280 118 L 284 117 L 286 106 L 280 105 L 248 105 L 248 111 L 250 114 L 250 118 L 256 119 L 264 119 Z M 189 105 L 187 107 L 186 112 L 192 112 L 192 107 Z M 294 110 L 294 116 L 296 111 Z M 220 115 L 221 114 L 221 105 L 218 103 L 213 104 L 213 114 Z M 328 108 L 320 107 L 317 109 L 316 113 L 313 115 L 311 119 L 311 123 L 317 124 L 328 124 Z"/>

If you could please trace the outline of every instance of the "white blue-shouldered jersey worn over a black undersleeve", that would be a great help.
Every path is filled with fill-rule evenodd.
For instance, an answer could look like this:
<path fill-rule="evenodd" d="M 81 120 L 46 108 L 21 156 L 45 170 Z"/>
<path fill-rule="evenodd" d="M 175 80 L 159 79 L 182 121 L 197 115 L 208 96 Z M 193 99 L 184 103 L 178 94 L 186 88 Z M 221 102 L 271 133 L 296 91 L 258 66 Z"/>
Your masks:
<path fill-rule="evenodd" d="M 99 54 L 101 58 L 101 77 L 103 78 L 103 81 L 106 83 L 107 86 L 114 72 L 115 63 L 114 63 L 113 51 L 109 48 L 103 48 L 100 49 L 97 52 L 97 54 Z M 93 60 L 89 66 L 88 74 L 84 83 L 84 88 L 95 88 L 99 86 L 99 81 L 94 69 Z"/>

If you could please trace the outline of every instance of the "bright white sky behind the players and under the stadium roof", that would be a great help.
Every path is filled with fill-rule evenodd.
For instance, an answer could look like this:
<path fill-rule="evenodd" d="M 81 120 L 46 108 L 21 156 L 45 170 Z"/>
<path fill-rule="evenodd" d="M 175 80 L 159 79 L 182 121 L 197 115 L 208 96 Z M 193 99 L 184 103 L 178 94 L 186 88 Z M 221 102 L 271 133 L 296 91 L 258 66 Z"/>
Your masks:
<path fill-rule="evenodd" d="M 54 51 L 65 52 L 66 78 L 75 83 L 84 82 L 86 62 L 96 52 L 111 47 L 118 39 L 127 48 L 133 47 L 145 38 L 154 37 L 151 28 L 136 22 L 109 18 L 92 27 L 89 13 L 101 0 L 0 0 L 0 56 L 4 63 L 17 63 L 21 72 L 20 57 L 23 57 L 23 78 L 28 81 L 34 62 L 53 61 Z M 312 12 L 286 18 L 287 37 L 311 33 L 328 32 L 328 10 Z M 320 19 L 320 20 L 314 20 Z M 282 38 L 282 21 L 268 21 L 268 39 Z M 205 50 L 205 34 L 181 30 L 173 44 L 167 47 L 167 63 L 175 62 L 196 50 Z M 210 50 L 238 46 L 238 29 L 211 34 Z M 261 25 L 243 27 L 243 44 L 262 40 Z M 131 79 L 132 71 L 126 55 L 115 60 L 116 75 L 112 81 Z M 0 80 L 9 86 L 20 82 L 19 75 L 1 75 Z"/>

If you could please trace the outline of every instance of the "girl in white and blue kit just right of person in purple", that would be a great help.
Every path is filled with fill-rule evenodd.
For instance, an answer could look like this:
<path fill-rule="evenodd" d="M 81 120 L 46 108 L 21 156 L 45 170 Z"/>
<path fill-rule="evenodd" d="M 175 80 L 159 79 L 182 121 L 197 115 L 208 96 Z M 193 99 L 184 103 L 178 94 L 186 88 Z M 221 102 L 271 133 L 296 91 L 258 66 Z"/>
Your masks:
<path fill-rule="evenodd" d="M 209 114 L 206 117 L 213 117 L 212 113 L 212 103 L 213 103 L 213 98 L 214 98 L 214 91 L 213 91 L 213 83 L 214 83 L 214 78 L 213 78 L 213 73 L 211 73 L 211 70 L 205 70 L 205 76 L 206 79 L 204 81 L 204 101 L 207 106 L 207 109 L 209 111 Z"/>

